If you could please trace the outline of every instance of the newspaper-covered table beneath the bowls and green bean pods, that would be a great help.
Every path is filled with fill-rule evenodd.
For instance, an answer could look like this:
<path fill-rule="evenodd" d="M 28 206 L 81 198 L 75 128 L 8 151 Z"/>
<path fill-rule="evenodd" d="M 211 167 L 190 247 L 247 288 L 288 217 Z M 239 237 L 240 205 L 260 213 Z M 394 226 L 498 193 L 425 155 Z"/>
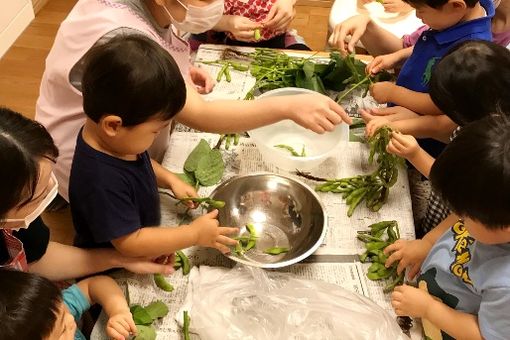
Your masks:
<path fill-rule="evenodd" d="M 209 50 L 209 52 L 211 51 Z M 200 57 L 201 55 L 204 54 L 200 54 L 199 51 L 197 56 Z M 239 84 L 244 84 L 244 87 L 240 86 L 238 89 L 245 89 L 248 82 L 249 79 L 247 78 L 239 80 Z M 228 88 L 230 84 L 226 84 L 226 88 L 221 85 L 220 83 L 220 86 L 215 90 L 215 92 L 218 91 L 215 96 L 232 96 L 231 90 Z M 354 101 L 351 104 L 358 105 L 359 103 Z M 189 131 L 174 132 L 170 138 L 170 145 L 164 157 L 163 166 L 174 172 L 182 172 L 185 159 L 200 139 L 205 139 L 210 145 L 214 145 L 218 138 L 219 135 L 215 134 Z M 238 174 L 264 171 L 294 177 L 313 187 L 312 182 L 298 178 L 295 174 L 281 171 L 271 164 L 266 164 L 249 138 L 241 138 L 238 146 L 228 151 L 224 150 L 222 153 L 226 164 L 223 180 Z M 329 158 L 318 169 L 314 170 L 314 174 L 322 177 L 347 177 L 369 173 L 372 170 L 368 165 L 368 147 L 365 144 L 348 143 L 348 145 L 340 146 L 335 154 L 336 157 Z M 208 196 L 213 189 L 214 187 L 201 188 L 199 193 L 202 196 Z M 382 308 L 393 313 L 389 304 L 389 296 L 382 292 L 383 284 L 368 280 L 365 276 L 368 265 L 357 261 L 357 254 L 363 252 L 363 244 L 356 240 L 356 232 L 357 230 L 365 230 L 371 223 L 395 219 L 399 222 L 403 238 L 413 239 L 415 237 L 407 172 L 405 169 L 401 169 L 398 182 L 392 188 L 387 204 L 377 213 L 368 211 L 362 205 L 356 209 L 352 218 L 349 219 L 346 215 L 347 206 L 338 195 L 319 193 L 319 196 L 326 207 L 329 224 L 323 245 L 307 262 L 284 268 L 281 271 L 302 278 L 318 279 L 340 285 L 345 289 L 371 298 Z M 182 208 L 176 207 L 173 199 L 162 195 L 162 225 L 177 225 L 179 220 L 177 216 L 178 209 Z M 231 260 L 212 249 L 192 247 L 186 249 L 185 253 L 195 265 L 233 266 Z M 155 323 L 158 329 L 158 339 L 180 339 L 181 330 L 174 317 L 184 302 L 188 287 L 188 276 L 182 276 L 182 271 L 178 271 L 169 277 L 168 280 L 175 287 L 175 290 L 171 293 L 157 288 L 150 275 L 120 272 L 115 274 L 115 277 L 126 289 L 131 304 L 146 305 L 155 299 L 165 300 L 169 305 L 170 313 L 161 321 Z M 92 339 L 106 339 L 103 333 L 104 323 L 105 316 L 102 315 L 94 328 Z M 418 327 L 413 329 L 413 338 L 420 338 Z"/>

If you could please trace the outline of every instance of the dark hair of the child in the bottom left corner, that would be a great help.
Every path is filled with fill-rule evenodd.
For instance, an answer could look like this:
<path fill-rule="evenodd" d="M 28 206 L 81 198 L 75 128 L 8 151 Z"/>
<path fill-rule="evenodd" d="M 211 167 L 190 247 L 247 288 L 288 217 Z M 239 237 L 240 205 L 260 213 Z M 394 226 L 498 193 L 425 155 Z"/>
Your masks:
<path fill-rule="evenodd" d="M 35 274 L 0 270 L 0 340 L 42 340 L 55 327 L 62 295 Z"/>

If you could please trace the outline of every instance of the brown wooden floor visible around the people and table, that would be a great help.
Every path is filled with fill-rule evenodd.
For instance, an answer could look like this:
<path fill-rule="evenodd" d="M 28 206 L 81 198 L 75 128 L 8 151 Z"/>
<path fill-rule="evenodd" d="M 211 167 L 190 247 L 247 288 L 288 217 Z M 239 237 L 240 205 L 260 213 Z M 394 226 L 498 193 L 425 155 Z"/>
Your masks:
<path fill-rule="evenodd" d="M 0 59 L 0 105 L 33 118 L 39 83 L 60 22 L 76 0 L 49 0 L 29 27 Z M 323 50 L 326 43 L 328 7 L 296 6 L 291 27 L 313 50 Z M 69 209 L 45 213 L 43 219 L 51 229 L 51 239 L 72 243 L 73 228 Z"/>

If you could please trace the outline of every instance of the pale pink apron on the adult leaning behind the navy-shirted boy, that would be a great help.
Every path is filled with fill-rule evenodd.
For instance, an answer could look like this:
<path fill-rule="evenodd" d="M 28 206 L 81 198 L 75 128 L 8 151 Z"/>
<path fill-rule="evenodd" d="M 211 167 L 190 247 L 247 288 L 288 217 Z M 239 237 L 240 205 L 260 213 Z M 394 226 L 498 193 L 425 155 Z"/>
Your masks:
<path fill-rule="evenodd" d="M 80 0 L 74 6 L 60 25 L 46 58 L 35 116 L 48 129 L 59 149 L 54 173 L 59 193 L 67 201 L 76 137 L 85 123 L 82 96 L 69 82 L 69 73 L 103 35 L 122 27 L 139 30 L 165 48 L 179 65 L 184 79 L 188 77 L 189 45 L 177 35 L 171 33 L 168 40 L 164 40 L 135 11 L 109 0 Z M 159 134 L 161 138 L 149 150 L 151 157 L 162 158 L 168 145 L 169 129 Z"/>

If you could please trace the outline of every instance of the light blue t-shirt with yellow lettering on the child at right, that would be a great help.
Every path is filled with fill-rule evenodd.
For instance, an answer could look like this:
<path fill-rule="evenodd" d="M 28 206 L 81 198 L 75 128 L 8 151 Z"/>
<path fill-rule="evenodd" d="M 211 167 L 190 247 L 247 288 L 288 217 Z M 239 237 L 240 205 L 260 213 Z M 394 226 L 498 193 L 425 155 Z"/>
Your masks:
<path fill-rule="evenodd" d="M 458 221 L 434 244 L 421 270 L 420 287 L 426 283 L 446 305 L 477 315 L 484 339 L 509 338 L 510 243 L 480 243 Z"/>

